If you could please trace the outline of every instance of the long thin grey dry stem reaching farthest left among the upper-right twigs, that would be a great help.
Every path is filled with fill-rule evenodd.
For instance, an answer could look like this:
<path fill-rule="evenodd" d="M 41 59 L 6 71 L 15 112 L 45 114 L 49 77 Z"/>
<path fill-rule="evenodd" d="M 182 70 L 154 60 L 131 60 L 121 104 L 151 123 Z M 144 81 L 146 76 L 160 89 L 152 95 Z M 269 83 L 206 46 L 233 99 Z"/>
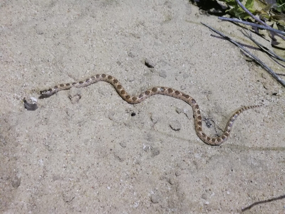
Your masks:
<path fill-rule="evenodd" d="M 226 40 L 230 41 L 231 43 L 234 43 L 235 45 L 237 45 L 239 48 L 241 48 L 242 50 L 244 50 L 244 52 L 246 52 L 249 56 L 252 57 L 252 59 L 254 59 L 256 62 L 258 62 L 263 68 L 265 68 L 265 70 L 268 71 L 269 74 L 272 75 L 272 77 L 274 77 L 274 79 L 276 79 L 282 86 L 285 86 L 285 81 L 282 80 L 274 71 L 272 71 L 266 64 L 264 64 L 260 59 L 258 59 L 256 56 L 254 56 L 252 53 L 250 53 L 248 50 L 246 50 L 242 45 L 240 45 L 239 43 L 237 43 L 236 41 L 230 39 L 229 37 L 227 37 L 226 35 L 222 34 L 221 32 L 213 29 L 212 27 L 204 24 L 203 22 L 201 22 L 201 24 L 203 24 L 204 26 L 208 27 L 209 29 L 211 29 L 212 31 L 214 31 L 215 33 L 221 35 L 222 37 L 224 37 Z"/>

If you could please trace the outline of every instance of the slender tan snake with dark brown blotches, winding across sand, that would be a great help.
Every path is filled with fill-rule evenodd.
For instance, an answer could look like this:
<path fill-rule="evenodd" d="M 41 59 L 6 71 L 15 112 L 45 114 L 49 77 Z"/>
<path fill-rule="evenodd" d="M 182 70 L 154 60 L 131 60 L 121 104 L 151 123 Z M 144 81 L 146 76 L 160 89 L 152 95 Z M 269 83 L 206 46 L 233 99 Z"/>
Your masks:
<path fill-rule="evenodd" d="M 244 111 L 256 107 L 260 107 L 261 105 L 252 105 L 252 106 L 247 106 L 239 109 L 236 111 L 232 117 L 229 119 L 226 128 L 222 134 L 222 136 L 217 136 L 217 137 L 210 137 L 207 136 L 203 129 L 202 129 L 202 116 L 201 116 L 201 111 L 199 108 L 199 105 L 197 104 L 196 100 L 192 98 L 190 95 L 185 94 L 179 90 L 175 90 L 171 87 L 164 87 L 164 86 L 156 86 L 152 87 L 150 89 L 147 89 L 145 92 L 140 93 L 137 96 L 131 96 L 129 95 L 126 90 L 123 88 L 122 84 L 113 76 L 107 75 L 107 74 L 97 74 L 95 76 L 92 76 L 84 81 L 80 82 L 74 82 L 74 83 L 67 83 L 67 84 L 60 84 L 57 86 L 53 86 L 47 90 L 41 90 L 41 96 L 42 98 L 49 97 L 55 93 L 57 93 L 60 90 L 66 90 L 70 89 L 72 87 L 85 87 L 89 86 L 93 83 L 99 82 L 99 81 L 104 81 L 107 83 L 110 83 L 112 86 L 115 87 L 117 90 L 118 94 L 122 97 L 123 100 L 130 104 L 136 104 L 144 101 L 145 99 L 149 98 L 150 96 L 156 95 L 156 94 L 162 94 L 170 97 L 174 97 L 176 99 L 180 99 L 188 103 L 192 109 L 193 109 L 193 114 L 194 114 L 194 121 L 195 121 L 195 130 L 198 135 L 198 137 L 206 144 L 209 145 L 220 145 L 223 142 L 225 142 L 228 137 L 230 136 L 230 132 L 232 130 L 233 124 L 237 117 Z"/>

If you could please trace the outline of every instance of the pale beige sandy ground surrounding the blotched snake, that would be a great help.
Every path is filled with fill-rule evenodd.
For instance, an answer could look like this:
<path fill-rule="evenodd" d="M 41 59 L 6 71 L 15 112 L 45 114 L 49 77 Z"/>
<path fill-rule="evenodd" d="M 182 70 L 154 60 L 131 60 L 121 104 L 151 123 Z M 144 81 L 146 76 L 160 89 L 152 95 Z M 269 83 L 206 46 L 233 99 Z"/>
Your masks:
<path fill-rule="evenodd" d="M 284 214 L 285 199 L 276 199 L 285 195 L 284 87 L 201 21 L 252 45 L 186 0 L 2 1 L 0 212 Z M 198 138 L 183 101 L 157 95 L 131 105 L 104 82 L 24 108 L 23 97 L 98 73 L 131 94 L 152 86 L 190 94 L 210 135 L 239 108 L 264 106 L 244 112 L 221 146 Z"/>

